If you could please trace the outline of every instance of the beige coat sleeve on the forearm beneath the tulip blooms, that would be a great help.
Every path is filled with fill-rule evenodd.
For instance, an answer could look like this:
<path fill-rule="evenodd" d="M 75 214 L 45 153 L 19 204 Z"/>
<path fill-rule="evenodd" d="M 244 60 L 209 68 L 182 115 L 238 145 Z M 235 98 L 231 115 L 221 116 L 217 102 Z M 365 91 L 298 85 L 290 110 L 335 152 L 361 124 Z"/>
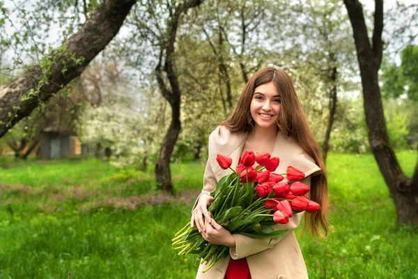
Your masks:
<path fill-rule="evenodd" d="M 302 179 L 302 183 L 311 186 L 311 176 Z M 276 245 L 283 239 L 286 239 L 286 237 L 289 236 L 289 234 L 291 234 L 293 230 L 299 226 L 303 214 L 304 211 L 297 214 L 293 214 L 293 217 L 289 218 L 289 223 L 277 224 L 272 226 L 275 230 L 288 229 L 288 231 L 285 234 L 277 236 L 276 238 L 272 239 L 272 241 L 270 241 L 270 239 L 252 239 L 249 236 L 233 234 L 233 237 L 235 238 L 235 247 L 229 249 L 229 254 L 231 255 L 231 258 L 242 259 L 243 257 L 254 255 L 258 252 L 267 250 L 268 248 L 273 248 L 274 245 Z"/>

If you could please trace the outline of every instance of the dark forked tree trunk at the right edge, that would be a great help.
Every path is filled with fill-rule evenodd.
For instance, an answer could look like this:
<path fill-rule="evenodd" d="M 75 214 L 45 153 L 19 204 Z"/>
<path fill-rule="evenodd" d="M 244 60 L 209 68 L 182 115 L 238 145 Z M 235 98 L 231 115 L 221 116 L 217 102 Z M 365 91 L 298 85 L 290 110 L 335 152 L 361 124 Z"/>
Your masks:
<path fill-rule="evenodd" d="M 371 151 L 394 199 L 398 223 L 418 225 L 418 163 L 412 178 L 403 174 L 389 144 L 378 83 L 382 61 L 383 3 L 376 0 L 372 44 L 367 35 L 361 3 L 357 0 L 344 0 L 344 3 L 353 27 Z"/>

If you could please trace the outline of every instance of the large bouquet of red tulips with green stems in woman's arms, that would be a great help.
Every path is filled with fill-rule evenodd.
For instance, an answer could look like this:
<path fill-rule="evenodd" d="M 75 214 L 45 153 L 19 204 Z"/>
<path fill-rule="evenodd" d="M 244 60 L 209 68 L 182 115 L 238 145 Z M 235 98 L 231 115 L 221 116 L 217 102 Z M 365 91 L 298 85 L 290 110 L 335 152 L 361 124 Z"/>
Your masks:
<path fill-rule="evenodd" d="M 231 158 L 218 154 L 217 162 L 222 169 L 231 169 Z M 275 174 L 278 166 L 279 158 L 269 153 L 246 151 L 233 173 L 222 177 L 210 193 L 214 199 L 208 211 L 215 221 L 231 234 L 272 239 L 287 232 L 274 230 L 272 225 L 288 223 L 293 213 L 318 211 L 320 205 L 306 196 L 309 186 L 300 182 L 305 174 L 292 166 L 284 174 Z M 288 182 L 282 181 L 284 175 Z M 178 255 L 199 254 L 196 262 L 212 261 L 203 272 L 229 255 L 229 247 L 208 243 L 189 223 L 172 241 L 174 249 L 180 250 Z"/>

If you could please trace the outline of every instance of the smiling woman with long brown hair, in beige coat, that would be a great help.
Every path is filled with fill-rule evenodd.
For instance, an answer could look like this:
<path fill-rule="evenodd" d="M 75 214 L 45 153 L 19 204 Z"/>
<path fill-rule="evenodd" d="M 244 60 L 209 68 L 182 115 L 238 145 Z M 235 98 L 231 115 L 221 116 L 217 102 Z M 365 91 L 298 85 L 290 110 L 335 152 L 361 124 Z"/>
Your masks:
<path fill-rule="evenodd" d="M 209 243 L 229 246 L 231 257 L 217 262 L 206 273 L 202 271 L 207 265 L 201 264 L 196 278 L 308 278 L 293 232 L 304 212 L 293 214 L 286 225 L 274 225 L 274 229 L 288 229 L 288 232 L 271 241 L 231 234 L 210 218 L 208 205 L 213 199 L 210 192 L 219 179 L 232 172 L 219 167 L 217 154 L 232 158 L 231 167 L 235 169 L 240 156 L 249 150 L 279 157 L 277 174 L 286 172 L 289 165 L 305 173 L 302 183 L 311 188 L 309 198 L 321 206 L 320 211 L 305 216 L 305 224 L 314 234 L 320 235 L 320 227 L 327 234 L 327 179 L 320 148 L 297 100 L 291 77 L 281 69 L 263 68 L 247 82 L 229 119 L 209 137 L 203 190 L 194 204 L 191 225 L 196 223 Z"/>

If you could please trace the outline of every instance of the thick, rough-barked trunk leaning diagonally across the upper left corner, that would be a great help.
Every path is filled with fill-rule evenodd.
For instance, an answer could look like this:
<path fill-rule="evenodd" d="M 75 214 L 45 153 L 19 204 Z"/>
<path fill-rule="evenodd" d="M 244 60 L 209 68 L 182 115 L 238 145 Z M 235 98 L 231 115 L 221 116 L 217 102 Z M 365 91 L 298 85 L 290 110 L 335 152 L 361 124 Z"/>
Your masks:
<path fill-rule="evenodd" d="M 44 59 L 51 59 L 53 65 L 47 75 L 47 82 L 39 84 L 44 74 L 40 64 L 33 66 L 22 77 L 10 84 L 0 86 L 0 137 L 20 119 L 28 116 L 40 102 L 45 102 L 75 77 L 79 76 L 91 60 L 101 52 L 121 28 L 135 0 L 106 0 L 77 33 L 64 43 L 65 55 L 55 51 Z M 67 55 L 75 54 L 76 63 Z M 21 100 L 31 89 L 36 96 Z"/>

